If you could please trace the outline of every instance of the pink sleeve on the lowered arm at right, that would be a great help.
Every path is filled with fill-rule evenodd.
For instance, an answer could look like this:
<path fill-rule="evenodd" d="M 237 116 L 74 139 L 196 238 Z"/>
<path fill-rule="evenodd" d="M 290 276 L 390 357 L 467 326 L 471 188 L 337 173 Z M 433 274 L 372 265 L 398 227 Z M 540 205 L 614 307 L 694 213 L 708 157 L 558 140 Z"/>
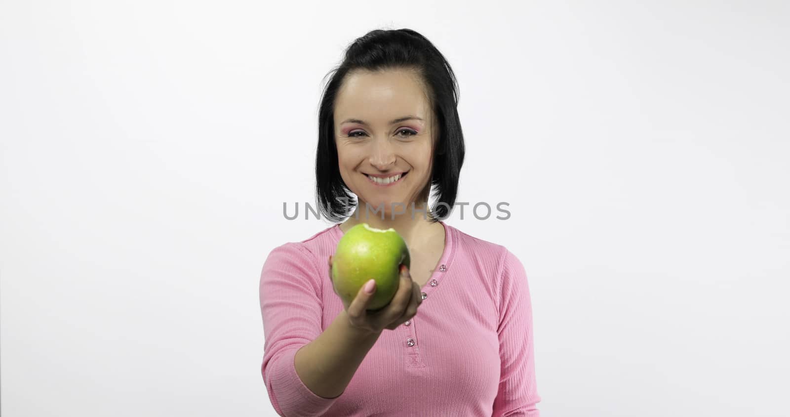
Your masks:
<path fill-rule="evenodd" d="M 492 417 L 539 417 L 529 285 L 524 265 L 510 251 L 504 254 L 498 285 L 502 369 Z"/>

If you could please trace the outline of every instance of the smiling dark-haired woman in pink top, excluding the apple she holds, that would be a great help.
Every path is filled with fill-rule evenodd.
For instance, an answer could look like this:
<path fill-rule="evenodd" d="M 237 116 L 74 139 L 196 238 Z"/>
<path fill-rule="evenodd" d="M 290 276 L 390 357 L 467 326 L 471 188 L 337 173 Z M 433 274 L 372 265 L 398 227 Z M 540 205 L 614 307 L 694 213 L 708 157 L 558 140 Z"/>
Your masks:
<path fill-rule="evenodd" d="M 318 205 L 342 222 L 276 247 L 261 271 L 261 374 L 276 411 L 539 415 L 521 262 L 441 221 L 464 160 L 457 85 L 442 54 L 409 29 L 356 39 L 318 122 Z M 375 312 L 366 309 L 374 287 L 346 305 L 329 274 L 337 242 L 359 223 L 393 227 L 411 254 L 393 301 Z"/>

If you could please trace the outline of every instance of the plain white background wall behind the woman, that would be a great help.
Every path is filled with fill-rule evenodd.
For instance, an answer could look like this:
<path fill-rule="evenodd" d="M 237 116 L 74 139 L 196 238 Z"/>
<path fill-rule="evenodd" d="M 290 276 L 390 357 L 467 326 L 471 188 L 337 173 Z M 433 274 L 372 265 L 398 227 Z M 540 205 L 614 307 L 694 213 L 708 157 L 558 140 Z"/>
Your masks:
<path fill-rule="evenodd" d="M 652 4 L 651 4 L 652 3 Z M 787 2 L 0 2 L 2 415 L 275 415 L 261 266 L 325 220 L 322 78 L 449 59 L 447 220 L 532 291 L 545 416 L 787 415 Z M 784 353 L 782 353 L 784 352 Z"/>

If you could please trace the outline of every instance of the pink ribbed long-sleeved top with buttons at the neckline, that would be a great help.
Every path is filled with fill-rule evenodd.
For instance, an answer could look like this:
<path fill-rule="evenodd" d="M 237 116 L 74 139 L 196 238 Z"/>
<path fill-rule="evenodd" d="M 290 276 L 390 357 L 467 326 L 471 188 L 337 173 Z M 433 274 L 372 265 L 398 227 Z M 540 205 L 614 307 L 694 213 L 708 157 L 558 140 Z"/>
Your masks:
<path fill-rule="evenodd" d="M 279 415 L 540 415 L 521 261 L 504 246 L 442 225 L 445 250 L 417 315 L 382 332 L 334 399 L 303 384 L 294 355 L 343 310 L 327 264 L 343 231 L 336 224 L 272 250 L 261 271 L 261 374 Z"/>

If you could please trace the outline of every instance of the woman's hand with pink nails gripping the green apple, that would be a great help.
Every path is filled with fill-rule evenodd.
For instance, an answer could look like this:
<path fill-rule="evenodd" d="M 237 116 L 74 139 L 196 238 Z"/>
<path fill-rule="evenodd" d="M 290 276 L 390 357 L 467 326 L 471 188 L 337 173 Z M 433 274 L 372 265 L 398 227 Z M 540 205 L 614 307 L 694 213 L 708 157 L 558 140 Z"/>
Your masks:
<path fill-rule="evenodd" d="M 332 279 L 331 256 L 329 256 L 329 279 Z M 354 329 L 371 333 L 379 333 L 383 329 L 394 330 L 417 314 L 417 308 L 423 302 L 423 296 L 419 290 L 419 285 L 412 281 L 412 276 L 408 273 L 406 265 L 401 265 L 401 284 L 398 285 L 392 301 L 386 306 L 375 311 L 367 310 L 368 304 L 376 293 L 375 287 L 371 294 L 365 292 L 364 286 L 359 288 L 351 305 L 343 302 L 349 324 Z"/>

